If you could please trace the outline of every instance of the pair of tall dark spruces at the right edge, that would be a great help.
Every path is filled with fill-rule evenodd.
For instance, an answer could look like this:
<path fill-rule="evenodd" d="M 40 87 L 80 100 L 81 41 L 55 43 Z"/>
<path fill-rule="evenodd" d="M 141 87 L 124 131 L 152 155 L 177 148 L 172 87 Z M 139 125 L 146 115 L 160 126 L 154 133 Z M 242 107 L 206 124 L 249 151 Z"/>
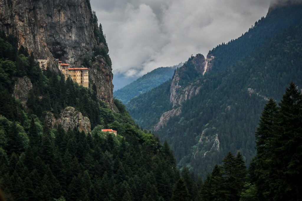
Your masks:
<path fill-rule="evenodd" d="M 256 132 L 253 178 L 260 200 L 299 200 L 302 179 L 302 95 L 291 83 L 279 107 L 270 100 Z"/>

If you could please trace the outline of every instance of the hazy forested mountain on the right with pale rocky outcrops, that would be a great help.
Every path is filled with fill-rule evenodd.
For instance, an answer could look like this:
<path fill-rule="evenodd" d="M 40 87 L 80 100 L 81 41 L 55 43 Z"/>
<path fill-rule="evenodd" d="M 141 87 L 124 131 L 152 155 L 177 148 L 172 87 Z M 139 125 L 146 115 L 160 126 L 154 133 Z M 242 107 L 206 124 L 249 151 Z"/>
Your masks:
<path fill-rule="evenodd" d="M 130 115 L 168 141 L 179 167 L 203 177 L 228 151 L 248 164 L 265 102 L 279 100 L 291 81 L 302 85 L 301 11 L 270 8 L 239 39 L 189 58 L 171 81 L 132 99 Z"/>

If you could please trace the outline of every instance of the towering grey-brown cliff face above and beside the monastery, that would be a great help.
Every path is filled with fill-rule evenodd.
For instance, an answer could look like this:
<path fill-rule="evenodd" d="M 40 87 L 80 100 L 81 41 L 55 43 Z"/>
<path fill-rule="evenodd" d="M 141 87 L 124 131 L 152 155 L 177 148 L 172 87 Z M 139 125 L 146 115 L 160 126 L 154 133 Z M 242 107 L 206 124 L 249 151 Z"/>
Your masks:
<path fill-rule="evenodd" d="M 0 29 L 18 38 L 36 59 L 50 58 L 50 68 L 58 71 L 53 58 L 80 66 L 92 57 L 92 49 L 108 52 L 94 35 L 94 23 L 86 0 L 0 0 Z M 117 111 L 113 103 L 111 64 L 99 55 L 92 62 L 91 80 L 100 99 Z M 92 86 L 92 83 L 91 83 Z"/>

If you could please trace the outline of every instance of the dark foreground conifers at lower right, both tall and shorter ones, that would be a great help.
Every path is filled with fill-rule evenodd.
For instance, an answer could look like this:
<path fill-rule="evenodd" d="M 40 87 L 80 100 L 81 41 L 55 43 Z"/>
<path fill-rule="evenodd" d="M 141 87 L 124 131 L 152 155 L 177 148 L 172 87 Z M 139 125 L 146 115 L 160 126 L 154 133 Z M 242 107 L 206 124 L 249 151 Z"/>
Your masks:
<path fill-rule="evenodd" d="M 257 154 L 249 169 L 231 152 L 207 175 L 202 200 L 300 200 L 302 94 L 294 83 L 278 106 L 265 105 L 255 133 Z"/>

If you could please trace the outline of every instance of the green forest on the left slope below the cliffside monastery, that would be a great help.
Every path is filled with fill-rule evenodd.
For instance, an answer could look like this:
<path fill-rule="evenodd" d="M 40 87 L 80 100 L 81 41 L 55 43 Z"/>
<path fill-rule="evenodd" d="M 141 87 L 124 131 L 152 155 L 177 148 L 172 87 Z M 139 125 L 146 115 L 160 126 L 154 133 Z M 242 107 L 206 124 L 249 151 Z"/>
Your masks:
<path fill-rule="evenodd" d="M 179 172 L 167 143 L 97 99 L 95 91 L 41 71 L 14 38 L 0 37 L 0 188 L 7 200 L 171 200 Z M 27 108 L 11 95 L 17 77 L 33 89 Z M 91 133 L 64 131 L 44 121 L 73 106 L 88 116 Z M 117 130 L 118 135 L 101 132 Z"/>

